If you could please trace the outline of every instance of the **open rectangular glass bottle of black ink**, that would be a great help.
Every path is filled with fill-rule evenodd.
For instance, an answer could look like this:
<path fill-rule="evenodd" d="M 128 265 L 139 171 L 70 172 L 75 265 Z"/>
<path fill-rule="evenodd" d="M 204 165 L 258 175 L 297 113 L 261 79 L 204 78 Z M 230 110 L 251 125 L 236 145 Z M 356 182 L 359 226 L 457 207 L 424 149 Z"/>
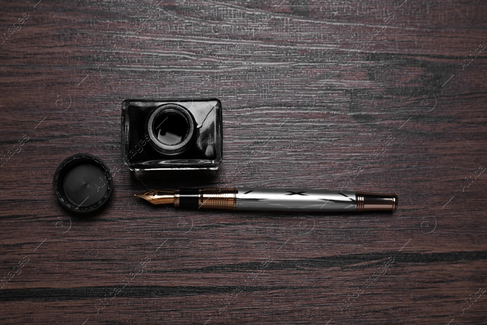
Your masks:
<path fill-rule="evenodd" d="M 126 99 L 122 159 L 131 171 L 217 170 L 222 104 L 211 99 Z"/>

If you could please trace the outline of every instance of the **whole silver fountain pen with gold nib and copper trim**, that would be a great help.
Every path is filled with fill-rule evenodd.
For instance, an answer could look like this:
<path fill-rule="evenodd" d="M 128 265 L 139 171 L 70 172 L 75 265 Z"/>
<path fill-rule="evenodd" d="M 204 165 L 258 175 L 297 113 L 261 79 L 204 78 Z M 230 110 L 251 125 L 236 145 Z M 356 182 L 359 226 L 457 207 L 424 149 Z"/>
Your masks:
<path fill-rule="evenodd" d="M 134 195 L 152 204 L 196 209 L 356 212 L 397 209 L 396 194 L 358 191 L 233 187 L 149 190 Z"/>

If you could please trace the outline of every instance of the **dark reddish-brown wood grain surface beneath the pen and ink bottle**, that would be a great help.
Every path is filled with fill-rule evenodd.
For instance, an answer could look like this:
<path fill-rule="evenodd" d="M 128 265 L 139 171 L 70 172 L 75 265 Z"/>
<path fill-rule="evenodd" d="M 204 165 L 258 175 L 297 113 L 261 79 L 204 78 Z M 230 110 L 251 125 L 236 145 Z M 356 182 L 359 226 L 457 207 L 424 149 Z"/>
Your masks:
<path fill-rule="evenodd" d="M 1 1 L 0 156 L 18 153 L 0 167 L 0 271 L 20 272 L 1 324 L 487 324 L 484 1 L 36 3 Z M 122 101 L 173 97 L 222 101 L 219 172 L 122 167 Z M 121 168 L 89 218 L 52 191 L 79 152 Z M 133 197 L 222 184 L 394 191 L 399 208 Z"/>

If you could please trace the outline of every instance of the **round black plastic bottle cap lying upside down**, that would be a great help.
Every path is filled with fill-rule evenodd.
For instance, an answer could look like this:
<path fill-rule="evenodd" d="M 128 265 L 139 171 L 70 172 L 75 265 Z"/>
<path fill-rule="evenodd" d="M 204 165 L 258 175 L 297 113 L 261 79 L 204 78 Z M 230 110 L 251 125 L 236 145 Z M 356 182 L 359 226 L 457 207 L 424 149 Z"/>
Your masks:
<path fill-rule="evenodd" d="M 63 207 L 75 212 L 91 212 L 108 201 L 113 180 L 108 166 L 98 157 L 78 153 L 57 166 L 54 194 Z"/>

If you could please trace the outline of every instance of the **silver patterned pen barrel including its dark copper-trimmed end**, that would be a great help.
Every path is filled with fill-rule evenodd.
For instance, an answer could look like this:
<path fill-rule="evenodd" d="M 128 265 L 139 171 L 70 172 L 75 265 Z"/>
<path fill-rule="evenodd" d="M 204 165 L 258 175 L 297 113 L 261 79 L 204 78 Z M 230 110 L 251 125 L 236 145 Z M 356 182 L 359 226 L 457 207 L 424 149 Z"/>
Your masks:
<path fill-rule="evenodd" d="M 236 188 L 235 210 L 366 211 L 397 208 L 387 193 L 302 189 Z"/>

